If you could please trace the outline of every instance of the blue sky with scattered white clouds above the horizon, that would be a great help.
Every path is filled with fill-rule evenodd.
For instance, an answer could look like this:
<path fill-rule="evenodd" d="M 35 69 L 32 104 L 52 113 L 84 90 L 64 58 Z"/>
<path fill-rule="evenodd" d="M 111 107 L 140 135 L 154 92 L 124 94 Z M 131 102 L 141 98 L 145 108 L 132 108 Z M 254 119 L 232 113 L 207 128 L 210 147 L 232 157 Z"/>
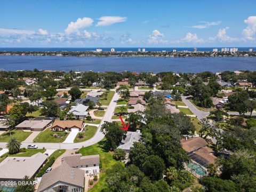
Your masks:
<path fill-rule="evenodd" d="M 1 1 L 0 47 L 250 47 L 256 1 Z"/>

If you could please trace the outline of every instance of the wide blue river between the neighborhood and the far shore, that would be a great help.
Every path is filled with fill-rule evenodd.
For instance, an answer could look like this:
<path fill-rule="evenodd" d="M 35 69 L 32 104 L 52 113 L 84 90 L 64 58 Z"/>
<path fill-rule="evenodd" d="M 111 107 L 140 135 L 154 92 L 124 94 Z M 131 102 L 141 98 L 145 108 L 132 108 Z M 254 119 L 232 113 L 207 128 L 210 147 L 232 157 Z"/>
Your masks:
<path fill-rule="evenodd" d="M 191 72 L 256 70 L 256 57 L 230 58 L 137 58 L 0 56 L 5 70 L 161 71 Z"/>

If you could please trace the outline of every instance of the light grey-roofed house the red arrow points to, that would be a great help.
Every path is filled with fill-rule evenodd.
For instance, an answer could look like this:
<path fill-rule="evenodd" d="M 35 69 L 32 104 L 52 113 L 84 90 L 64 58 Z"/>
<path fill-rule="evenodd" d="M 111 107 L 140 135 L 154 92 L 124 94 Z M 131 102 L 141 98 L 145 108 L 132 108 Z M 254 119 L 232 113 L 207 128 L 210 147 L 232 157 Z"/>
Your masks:
<path fill-rule="evenodd" d="M 126 153 L 130 153 L 133 143 L 141 141 L 141 135 L 140 130 L 137 130 L 136 132 L 127 131 L 126 137 L 121 141 L 121 145 L 119 145 L 117 148 L 125 150 Z"/>

